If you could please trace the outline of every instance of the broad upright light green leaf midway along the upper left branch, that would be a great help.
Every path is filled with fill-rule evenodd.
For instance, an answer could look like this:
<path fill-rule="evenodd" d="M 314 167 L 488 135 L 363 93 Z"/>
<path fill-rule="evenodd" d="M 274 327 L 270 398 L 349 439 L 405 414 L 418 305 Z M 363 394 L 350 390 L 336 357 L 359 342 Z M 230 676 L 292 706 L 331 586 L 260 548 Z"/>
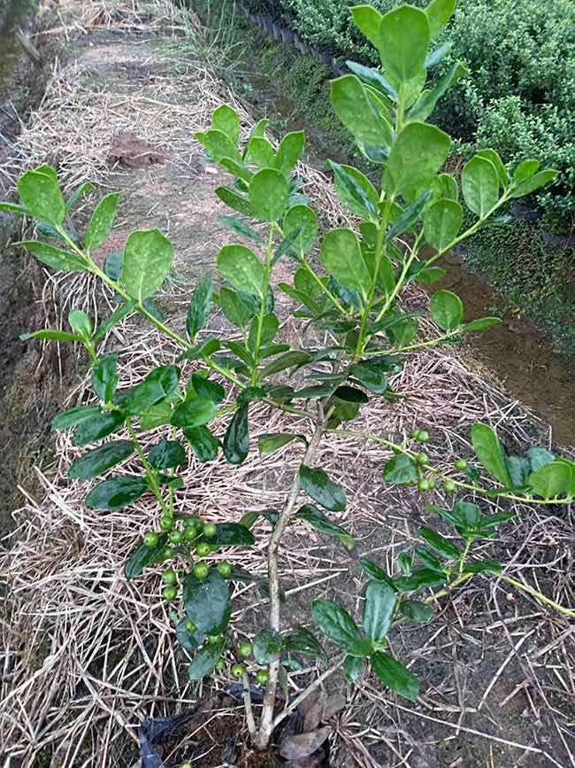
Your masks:
<path fill-rule="evenodd" d="M 124 247 L 121 283 L 137 301 L 149 299 L 172 268 L 173 244 L 159 229 L 132 232 Z"/>

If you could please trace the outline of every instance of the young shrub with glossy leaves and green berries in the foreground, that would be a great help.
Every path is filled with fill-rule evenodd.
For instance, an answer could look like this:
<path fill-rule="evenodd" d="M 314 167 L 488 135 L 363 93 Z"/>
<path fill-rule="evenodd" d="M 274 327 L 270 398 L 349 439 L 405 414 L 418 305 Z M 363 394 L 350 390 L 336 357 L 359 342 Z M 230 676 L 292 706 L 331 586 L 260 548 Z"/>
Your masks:
<path fill-rule="evenodd" d="M 40 237 L 20 245 L 43 265 L 96 275 L 115 291 L 117 308 L 99 327 L 88 314 L 73 310 L 69 331 L 28 334 L 81 344 L 88 352 L 98 402 L 73 407 L 53 423 L 56 430 L 73 431 L 74 446 L 87 448 L 69 477 L 91 483 L 88 508 L 128 510 L 145 494 L 156 497 L 157 518 L 150 519 L 149 531 L 126 562 L 126 578 L 137 578 L 149 567 L 163 570 L 158 587 L 171 604 L 176 637 L 191 656 L 189 678 L 201 680 L 230 664 L 232 675 L 243 681 L 249 732 L 259 749 L 305 695 L 341 667 L 349 681 L 369 668 L 382 685 L 416 700 L 418 679 L 392 650 L 395 626 L 433 620 L 435 601 L 478 575 L 495 575 L 563 614 L 575 615 L 507 577 L 501 563 L 475 554 L 476 542 L 493 537 L 511 512 L 487 515 L 479 503 L 456 500 L 454 495 L 562 504 L 575 495 L 575 463 L 540 447 L 508 455 L 490 426 L 476 424 L 472 446 L 485 477 L 464 460 L 444 472 L 423 451 L 429 440 L 426 431 L 415 430 L 395 443 L 387 435 L 349 430 L 372 398 L 384 398 L 394 407 L 401 394 L 395 392 L 394 375 L 411 353 L 459 342 L 467 333 L 500 322 L 493 317 L 468 322 L 455 293 L 436 291 L 431 312 L 437 332 L 423 338 L 418 313 L 403 311 L 398 299 L 410 283 L 440 279 L 443 273 L 436 260 L 493 220 L 509 200 L 556 179 L 556 171 L 540 170 L 536 159 L 524 159 L 508 173 L 498 154 L 488 149 L 469 160 L 460 184 L 442 172 L 451 139 L 426 120 L 466 70 L 456 62 L 433 88 L 426 88 L 426 81 L 445 53 L 445 46 L 438 49 L 433 40 L 453 6 L 451 0 L 433 0 L 425 10 L 403 5 L 385 15 L 370 5 L 352 10 L 381 62 L 378 68 L 350 62 L 350 74 L 332 82 L 334 111 L 364 157 L 380 171 L 376 187 L 356 168 L 328 161 L 337 194 L 356 217 L 353 229 L 330 229 L 318 236 L 318 217 L 295 176 L 303 132 L 288 133 L 276 148 L 265 137 L 267 121 L 261 120 L 242 142 L 234 110 L 222 105 L 213 113 L 211 128 L 196 137 L 230 174 L 229 184 L 216 190 L 233 212 L 223 221 L 251 247 L 232 242 L 221 249 L 217 288 L 211 277 L 197 285 L 183 330 L 161 319 L 151 304 L 173 265 L 173 245 L 158 229 L 134 231 L 121 258 L 111 257 L 103 269 L 92 258 L 111 234 L 118 194 L 100 201 L 82 237 L 73 236 L 67 220 L 86 188 L 66 201 L 51 167 L 28 171 L 19 180 L 20 204 L 1 206 L 38 222 Z M 467 229 L 462 229 L 464 208 L 472 213 Z M 330 345 L 316 340 L 294 348 L 276 338 L 280 321 L 272 275 L 280 260 L 289 260 L 295 270 L 293 281 L 279 286 L 293 300 L 293 317 L 305 328 L 327 330 Z M 214 306 L 231 326 L 225 339 L 210 336 Z M 175 342 L 180 358 L 178 364 L 151 369 L 140 384 L 126 390 L 118 372 L 121 353 L 105 353 L 103 346 L 112 326 L 131 313 L 142 314 Z M 180 469 L 188 462 L 229 462 L 232 482 L 233 467 L 249 455 L 255 402 L 304 417 L 309 424 L 304 434 L 282 432 L 259 440 L 262 456 L 288 444 L 300 446 L 302 459 L 282 508 L 245 510 L 240 521 L 217 524 L 204 522 L 193 509 L 177 511 L 174 501 L 183 485 Z M 218 417 L 226 421 L 223 435 L 211 428 Z M 172 427 L 171 437 L 146 453 L 142 433 L 166 425 Z M 391 450 L 392 458 L 381 468 L 383 483 L 418 485 L 422 493 L 441 487 L 453 501 L 428 508 L 431 524 L 419 531 L 418 547 L 399 556 L 395 573 L 380 562 L 360 558 L 366 578 L 363 616 L 352 617 L 336 601 L 315 600 L 311 617 L 317 631 L 285 627 L 280 624 L 278 553 L 288 526 L 306 524 L 335 537 L 342 547 L 355 546 L 349 531 L 334 522 L 333 513 L 349 503 L 346 492 L 316 459 L 320 441 L 338 433 L 356 436 L 358 450 L 363 439 Z M 134 454 L 139 474 L 121 474 L 119 466 Z M 433 528 L 433 516 L 452 527 L 452 537 Z M 265 523 L 262 535 L 268 539 L 269 622 L 236 646 L 229 627 L 234 582 L 255 577 L 223 560 L 221 553 L 252 546 L 258 520 Z M 315 656 L 327 664 L 318 633 L 339 648 L 341 656 L 303 694 L 291 702 L 287 698 L 282 709 L 277 687 L 288 690 L 293 656 Z M 265 688 L 257 718 L 250 680 Z"/>

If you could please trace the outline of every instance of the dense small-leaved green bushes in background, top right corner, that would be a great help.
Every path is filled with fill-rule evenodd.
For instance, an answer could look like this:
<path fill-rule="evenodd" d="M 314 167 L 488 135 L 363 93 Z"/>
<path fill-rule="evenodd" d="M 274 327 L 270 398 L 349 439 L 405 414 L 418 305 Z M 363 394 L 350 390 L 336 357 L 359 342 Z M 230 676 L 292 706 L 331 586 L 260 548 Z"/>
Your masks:
<path fill-rule="evenodd" d="M 375 64 L 357 34 L 349 8 L 356 0 L 249 0 L 249 10 L 272 15 L 303 40 L 343 58 Z M 371 0 L 387 12 L 399 0 Z M 421 0 L 411 4 L 422 6 Z M 546 226 L 570 231 L 575 223 L 575 4 L 572 0 L 459 0 L 444 36 L 470 77 L 444 97 L 437 121 L 462 151 L 494 147 L 510 164 L 540 157 L 561 171 L 537 198 Z M 441 39 L 439 44 L 441 44 Z"/>

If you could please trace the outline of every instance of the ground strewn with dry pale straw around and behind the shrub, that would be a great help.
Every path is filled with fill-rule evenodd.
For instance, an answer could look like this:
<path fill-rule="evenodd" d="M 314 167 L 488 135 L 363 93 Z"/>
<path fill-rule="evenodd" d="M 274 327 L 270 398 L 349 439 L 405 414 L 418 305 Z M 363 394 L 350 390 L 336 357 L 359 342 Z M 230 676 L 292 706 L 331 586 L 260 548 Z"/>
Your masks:
<path fill-rule="evenodd" d="M 210 124 L 211 112 L 224 100 L 240 110 L 246 132 L 259 116 L 238 103 L 206 63 L 195 19 L 169 4 L 67 0 L 59 4 L 53 34 L 65 36 L 68 53 L 20 136 L 20 159 L 10 172 L 48 160 L 69 190 L 88 180 L 99 182 L 101 192 L 123 190 L 118 226 L 99 255 L 119 250 L 131 229 L 164 229 L 177 256 L 158 303 L 181 329 L 197 275 L 213 268 L 229 239 L 219 222 L 226 211 L 213 195 L 224 176 L 203 157 L 192 134 Z M 326 176 L 308 166 L 299 172 L 325 223 L 344 220 Z M 80 220 L 86 215 L 80 209 Z M 279 279 L 288 277 L 290 266 L 282 269 Z M 45 281 L 62 323 L 73 307 L 99 315 L 109 311 L 111 297 L 85 277 L 46 273 Z M 427 301 L 418 291 L 408 300 L 418 307 Z M 431 329 L 431 321 L 426 323 Z M 210 332 L 228 335 L 229 329 L 216 316 Z M 286 320 L 281 332 L 294 343 L 303 339 L 301 326 Z M 111 333 L 106 348 L 120 353 L 123 388 L 178 355 L 134 317 Z M 185 364 L 184 380 L 193 370 L 193 363 Z M 469 454 L 470 426 L 478 421 L 495 425 L 511 447 L 552 444 L 548 428 L 465 350 L 414 356 L 395 388 L 404 400 L 393 407 L 372 401 L 353 428 L 395 437 L 415 425 L 427 429 L 429 454 L 446 467 L 455 455 Z M 88 380 L 81 380 L 67 393 L 66 406 L 92 399 Z M 224 428 L 222 421 L 216 432 Z M 181 473 L 179 508 L 214 522 L 239 520 L 249 509 L 277 508 L 301 451 L 288 446 L 261 461 L 253 446 L 260 434 L 307 430 L 303 421 L 254 405 L 248 461 L 231 469 L 190 456 Z M 147 445 L 164 436 L 162 428 L 148 433 Z M 67 433 L 55 441 L 54 466 L 40 473 L 43 498 L 30 496 L 14 512 L 17 530 L 4 542 L 0 561 L 8 597 L 0 656 L 4 765 L 136 765 L 142 718 L 186 713 L 199 700 L 200 714 L 165 750 L 165 765 L 236 764 L 234 755 L 245 741 L 242 710 L 231 698 L 214 695 L 230 679 L 224 674 L 199 689 L 190 683 L 157 572 L 130 583 L 123 576 L 126 557 L 157 520 L 157 508 L 147 497 L 117 512 L 86 508 L 87 485 L 66 478 L 78 449 Z M 286 622 L 308 623 L 309 602 L 318 596 L 336 595 L 357 614 L 364 583 L 358 558 L 370 555 L 392 568 L 396 555 L 413 545 L 426 522 L 425 500 L 410 489 L 382 485 L 388 456 L 381 446 L 349 436 L 324 441 L 318 463 L 347 490 L 349 507 L 336 520 L 355 535 L 357 547 L 349 554 L 308 528 L 290 529 L 281 553 Z M 121 471 L 137 472 L 137 462 Z M 441 503 L 439 495 L 436 501 Z M 495 503 L 486 504 L 495 509 Z M 575 605 L 573 510 L 517 512 L 517 522 L 485 545 L 485 555 L 508 563 L 510 576 Z M 256 547 L 229 559 L 264 576 L 265 528 L 257 532 L 262 535 Z M 256 585 L 236 586 L 234 619 L 239 636 L 265 624 L 265 596 Z M 395 654 L 422 680 L 417 704 L 397 699 L 371 677 L 353 688 L 336 675 L 328 680 L 327 692 L 343 704 L 329 719 L 330 764 L 575 766 L 574 632 L 565 619 L 502 582 L 474 580 L 436 606 L 431 624 L 395 633 Z M 292 693 L 312 673 L 309 665 L 296 673 Z"/>

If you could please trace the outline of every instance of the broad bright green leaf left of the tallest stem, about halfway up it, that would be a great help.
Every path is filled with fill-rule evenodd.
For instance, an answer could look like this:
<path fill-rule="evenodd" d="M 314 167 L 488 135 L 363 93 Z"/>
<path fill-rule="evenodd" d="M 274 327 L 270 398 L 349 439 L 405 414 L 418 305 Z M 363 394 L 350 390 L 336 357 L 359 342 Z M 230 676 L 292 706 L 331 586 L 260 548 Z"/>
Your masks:
<path fill-rule="evenodd" d="M 327 232 L 321 244 L 321 260 L 338 283 L 367 297 L 371 279 L 355 232 L 343 228 Z"/>

